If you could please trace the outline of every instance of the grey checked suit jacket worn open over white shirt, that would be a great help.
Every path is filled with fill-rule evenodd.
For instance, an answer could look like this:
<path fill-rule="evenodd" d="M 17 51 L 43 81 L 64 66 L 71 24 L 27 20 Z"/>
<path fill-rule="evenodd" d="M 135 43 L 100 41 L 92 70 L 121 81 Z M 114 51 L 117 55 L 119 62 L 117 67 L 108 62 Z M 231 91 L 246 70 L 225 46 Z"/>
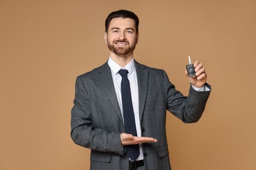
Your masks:
<path fill-rule="evenodd" d="M 190 88 L 185 97 L 175 90 L 165 71 L 137 61 L 135 67 L 142 136 L 158 139 L 157 143 L 142 144 L 144 164 L 148 170 L 171 169 L 165 133 L 166 110 L 185 123 L 197 122 L 210 92 Z M 77 76 L 71 127 L 74 143 L 91 149 L 91 169 L 128 169 L 125 147 L 120 141 L 125 126 L 108 63 Z"/>

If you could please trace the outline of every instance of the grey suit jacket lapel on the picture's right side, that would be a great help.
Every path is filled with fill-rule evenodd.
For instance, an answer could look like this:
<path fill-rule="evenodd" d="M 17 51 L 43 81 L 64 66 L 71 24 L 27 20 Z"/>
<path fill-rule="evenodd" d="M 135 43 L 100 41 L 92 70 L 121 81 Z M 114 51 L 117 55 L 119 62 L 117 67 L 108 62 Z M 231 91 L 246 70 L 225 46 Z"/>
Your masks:
<path fill-rule="evenodd" d="M 144 112 L 144 106 L 146 102 L 146 95 L 148 92 L 148 69 L 135 61 L 137 79 L 138 79 L 138 90 L 139 90 L 139 114 L 140 123 Z"/>

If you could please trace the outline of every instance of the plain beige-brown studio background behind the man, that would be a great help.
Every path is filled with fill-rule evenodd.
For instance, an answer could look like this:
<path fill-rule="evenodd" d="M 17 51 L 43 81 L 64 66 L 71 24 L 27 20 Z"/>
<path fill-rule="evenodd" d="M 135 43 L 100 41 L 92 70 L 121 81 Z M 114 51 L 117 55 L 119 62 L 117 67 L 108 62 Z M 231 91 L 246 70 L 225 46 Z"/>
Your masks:
<path fill-rule="evenodd" d="M 213 91 L 202 119 L 167 116 L 174 170 L 256 169 L 255 0 L 0 0 L 0 169 L 89 169 L 70 139 L 75 77 L 108 59 L 104 20 L 140 18 L 135 58 L 167 71 L 184 94 L 187 56 Z"/>

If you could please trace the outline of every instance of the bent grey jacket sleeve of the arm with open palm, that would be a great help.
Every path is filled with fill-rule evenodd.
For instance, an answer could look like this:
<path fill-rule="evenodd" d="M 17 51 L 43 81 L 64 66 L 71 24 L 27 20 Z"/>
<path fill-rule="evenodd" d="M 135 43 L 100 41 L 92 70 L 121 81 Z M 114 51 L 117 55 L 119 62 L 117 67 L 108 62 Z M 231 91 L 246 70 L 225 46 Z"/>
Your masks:
<path fill-rule="evenodd" d="M 119 132 L 93 127 L 89 95 L 79 76 L 75 82 L 74 107 L 71 111 L 71 137 L 74 143 L 91 150 L 123 155 Z"/>

